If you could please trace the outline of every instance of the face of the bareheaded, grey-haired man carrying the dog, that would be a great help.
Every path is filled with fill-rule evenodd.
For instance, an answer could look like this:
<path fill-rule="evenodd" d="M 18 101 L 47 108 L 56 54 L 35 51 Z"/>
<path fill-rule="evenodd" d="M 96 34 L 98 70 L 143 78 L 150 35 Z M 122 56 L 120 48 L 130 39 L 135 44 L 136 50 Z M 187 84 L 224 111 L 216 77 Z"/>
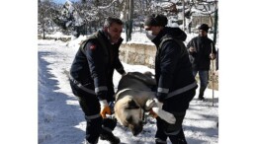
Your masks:
<path fill-rule="evenodd" d="M 113 23 L 109 28 L 107 28 L 108 34 L 111 38 L 112 43 L 116 43 L 121 38 L 123 26 L 117 23 Z"/>

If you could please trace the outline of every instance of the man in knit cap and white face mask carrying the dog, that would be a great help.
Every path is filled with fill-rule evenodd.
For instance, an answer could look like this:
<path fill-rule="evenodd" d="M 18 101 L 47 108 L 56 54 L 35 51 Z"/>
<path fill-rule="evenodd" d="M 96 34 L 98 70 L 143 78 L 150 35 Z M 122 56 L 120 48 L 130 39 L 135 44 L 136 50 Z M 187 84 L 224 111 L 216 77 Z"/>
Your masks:
<path fill-rule="evenodd" d="M 159 116 L 155 143 L 187 144 L 182 122 L 198 87 L 192 73 L 187 48 L 183 41 L 187 35 L 180 28 L 165 27 L 164 15 L 149 15 L 145 19 L 146 36 L 156 45 L 155 79 L 158 107 L 173 113 L 176 122 L 170 124 Z M 154 114 L 154 113 L 153 113 Z"/>

